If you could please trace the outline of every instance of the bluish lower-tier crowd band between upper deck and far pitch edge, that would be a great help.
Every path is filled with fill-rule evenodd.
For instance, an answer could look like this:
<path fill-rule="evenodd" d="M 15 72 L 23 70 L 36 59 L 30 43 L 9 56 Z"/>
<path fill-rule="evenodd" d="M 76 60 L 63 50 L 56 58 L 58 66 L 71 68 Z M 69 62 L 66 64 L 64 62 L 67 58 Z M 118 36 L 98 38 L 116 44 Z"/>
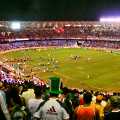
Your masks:
<path fill-rule="evenodd" d="M 120 49 L 120 41 L 96 39 L 44 39 L 13 41 L 0 44 L 0 51 L 30 47 L 96 47 L 106 49 Z"/>

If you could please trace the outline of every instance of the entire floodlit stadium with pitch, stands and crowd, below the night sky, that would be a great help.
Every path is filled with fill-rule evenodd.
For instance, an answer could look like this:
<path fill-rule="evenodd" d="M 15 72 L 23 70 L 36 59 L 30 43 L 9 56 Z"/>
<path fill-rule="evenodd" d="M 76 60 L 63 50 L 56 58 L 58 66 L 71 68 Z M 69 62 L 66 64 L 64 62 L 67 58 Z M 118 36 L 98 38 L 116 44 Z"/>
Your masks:
<path fill-rule="evenodd" d="M 0 21 L 0 120 L 119 120 L 120 22 Z"/>

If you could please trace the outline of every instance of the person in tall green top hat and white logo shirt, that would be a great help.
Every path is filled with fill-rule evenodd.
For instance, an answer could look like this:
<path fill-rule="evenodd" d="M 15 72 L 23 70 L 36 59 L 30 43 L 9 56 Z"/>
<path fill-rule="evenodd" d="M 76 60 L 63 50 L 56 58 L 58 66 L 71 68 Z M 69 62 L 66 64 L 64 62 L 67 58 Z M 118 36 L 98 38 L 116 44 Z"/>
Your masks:
<path fill-rule="evenodd" d="M 35 119 L 42 120 L 69 120 L 69 114 L 58 100 L 60 90 L 60 78 L 51 77 L 50 98 L 40 105 L 40 108 L 34 114 Z"/>

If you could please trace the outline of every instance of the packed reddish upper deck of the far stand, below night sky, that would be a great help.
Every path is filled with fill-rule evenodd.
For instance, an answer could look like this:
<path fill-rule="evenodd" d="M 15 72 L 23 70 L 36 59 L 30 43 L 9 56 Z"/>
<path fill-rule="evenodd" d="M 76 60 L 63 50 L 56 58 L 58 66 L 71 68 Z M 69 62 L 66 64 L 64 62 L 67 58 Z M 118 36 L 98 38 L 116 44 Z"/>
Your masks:
<path fill-rule="evenodd" d="M 0 39 L 120 39 L 120 22 L 99 21 L 0 21 Z"/>

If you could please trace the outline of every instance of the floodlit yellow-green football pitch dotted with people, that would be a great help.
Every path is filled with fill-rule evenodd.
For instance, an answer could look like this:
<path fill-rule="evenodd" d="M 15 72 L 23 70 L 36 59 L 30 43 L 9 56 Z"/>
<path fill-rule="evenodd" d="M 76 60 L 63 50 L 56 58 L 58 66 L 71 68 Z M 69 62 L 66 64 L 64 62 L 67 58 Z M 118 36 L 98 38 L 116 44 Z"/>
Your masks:
<path fill-rule="evenodd" d="M 2 53 L 1 61 L 19 63 L 24 75 L 43 80 L 59 76 L 65 86 L 120 90 L 120 53 L 86 48 L 27 49 Z M 17 69 L 17 68 L 16 68 Z"/>

